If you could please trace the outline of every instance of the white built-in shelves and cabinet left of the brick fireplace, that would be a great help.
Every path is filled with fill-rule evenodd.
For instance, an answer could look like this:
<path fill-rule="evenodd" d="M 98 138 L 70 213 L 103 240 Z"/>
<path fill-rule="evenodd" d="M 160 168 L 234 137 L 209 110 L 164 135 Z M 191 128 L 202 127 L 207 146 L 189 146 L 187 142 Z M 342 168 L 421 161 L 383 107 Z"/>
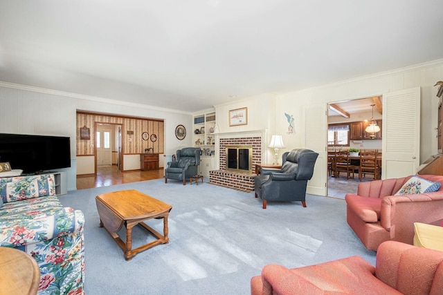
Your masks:
<path fill-rule="evenodd" d="M 201 149 L 199 175 L 209 177 L 215 163 L 215 112 L 201 113 L 194 116 L 192 141 Z"/>

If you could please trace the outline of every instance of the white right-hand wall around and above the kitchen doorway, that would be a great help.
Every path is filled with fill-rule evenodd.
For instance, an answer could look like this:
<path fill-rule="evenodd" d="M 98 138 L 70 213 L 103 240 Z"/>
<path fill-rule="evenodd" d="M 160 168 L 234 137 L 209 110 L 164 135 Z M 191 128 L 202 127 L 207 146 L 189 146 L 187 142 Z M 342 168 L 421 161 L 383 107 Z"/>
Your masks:
<path fill-rule="evenodd" d="M 287 107 L 285 108 L 284 106 L 293 105 L 294 107 L 291 111 L 303 117 L 306 108 L 319 106 L 320 111 L 317 115 L 320 118 L 325 116 L 327 104 L 331 102 L 372 97 L 392 91 L 420 87 L 420 163 L 422 163 L 431 155 L 437 153 L 435 127 L 437 126 L 438 97 L 436 97 L 437 87 L 433 85 L 435 82 L 442 80 L 442 77 L 443 60 L 433 61 L 408 68 L 392 70 L 386 73 L 379 73 L 377 75 L 350 79 L 336 84 L 278 95 L 277 111 L 281 113 L 287 110 Z M 407 115 L 408 114 L 405 114 L 405 116 Z M 278 125 L 277 128 L 283 129 L 285 125 L 284 122 L 280 121 L 279 123 L 280 125 Z M 309 134 L 305 134 L 306 126 L 304 126 L 302 120 L 300 120 L 298 124 L 300 124 L 297 126 L 298 133 L 292 142 L 294 145 L 300 144 L 300 146 L 304 146 L 305 139 Z M 326 130 L 327 126 L 325 126 L 325 145 Z M 320 153 L 320 165 L 316 165 L 316 169 L 321 169 L 321 171 L 320 173 L 314 173 L 314 177 L 321 175 L 323 182 L 326 179 L 326 159 L 324 157 L 324 151 L 318 152 Z M 313 181 L 315 181 L 314 178 Z"/>

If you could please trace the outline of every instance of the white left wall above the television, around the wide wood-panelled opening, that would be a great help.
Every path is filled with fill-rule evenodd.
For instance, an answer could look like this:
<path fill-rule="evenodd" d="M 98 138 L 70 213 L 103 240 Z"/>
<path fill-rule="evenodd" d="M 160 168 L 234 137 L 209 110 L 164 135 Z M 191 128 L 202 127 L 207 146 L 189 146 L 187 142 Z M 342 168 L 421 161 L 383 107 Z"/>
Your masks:
<path fill-rule="evenodd" d="M 147 97 L 147 102 L 153 99 L 155 97 Z M 0 82 L 0 133 L 71 137 L 71 168 L 66 169 L 68 190 L 76 189 L 77 166 L 88 160 L 76 162 L 77 110 L 161 119 L 164 120 L 165 154 L 172 155 L 177 146 L 191 146 L 190 113 Z M 185 126 L 188 133 L 184 140 L 175 137 L 179 124 Z"/>

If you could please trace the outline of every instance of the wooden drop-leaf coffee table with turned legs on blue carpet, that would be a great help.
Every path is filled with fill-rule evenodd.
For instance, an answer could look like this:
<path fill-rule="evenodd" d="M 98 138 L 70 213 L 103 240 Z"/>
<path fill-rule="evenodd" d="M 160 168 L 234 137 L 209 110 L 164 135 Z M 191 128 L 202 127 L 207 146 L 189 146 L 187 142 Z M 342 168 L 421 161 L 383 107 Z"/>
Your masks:
<path fill-rule="evenodd" d="M 103 193 L 96 196 L 96 204 L 100 216 L 100 227 L 105 227 L 116 240 L 117 244 L 123 249 L 126 260 L 155 245 L 169 242 L 168 216 L 172 209 L 170 204 L 147 196 L 135 189 Z M 152 218 L 163 218 L 163 235 L 143 222 Z M 126 243 L 117 234 L 123 225 L 126 227 Z M 132 249 L 132 227 L 135 225 L 141 225 L 147 229 L 157 240 Z"/>

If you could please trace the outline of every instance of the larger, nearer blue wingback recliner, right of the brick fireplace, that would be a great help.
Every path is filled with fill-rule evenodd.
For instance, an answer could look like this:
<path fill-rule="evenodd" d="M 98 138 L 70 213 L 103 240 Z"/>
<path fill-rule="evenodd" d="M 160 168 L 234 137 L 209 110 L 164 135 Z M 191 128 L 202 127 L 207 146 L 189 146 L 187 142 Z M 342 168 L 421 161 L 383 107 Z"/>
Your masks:
<path fill-rule="evenodd" d="M 283 153 L 281 169 L 262 169 L 254 178 L 255 198 L 266 201 L 301 201 L 306 207 L 307 181 L 312 178 L 318 153 L 309 149 L 293 149 Z"/>

